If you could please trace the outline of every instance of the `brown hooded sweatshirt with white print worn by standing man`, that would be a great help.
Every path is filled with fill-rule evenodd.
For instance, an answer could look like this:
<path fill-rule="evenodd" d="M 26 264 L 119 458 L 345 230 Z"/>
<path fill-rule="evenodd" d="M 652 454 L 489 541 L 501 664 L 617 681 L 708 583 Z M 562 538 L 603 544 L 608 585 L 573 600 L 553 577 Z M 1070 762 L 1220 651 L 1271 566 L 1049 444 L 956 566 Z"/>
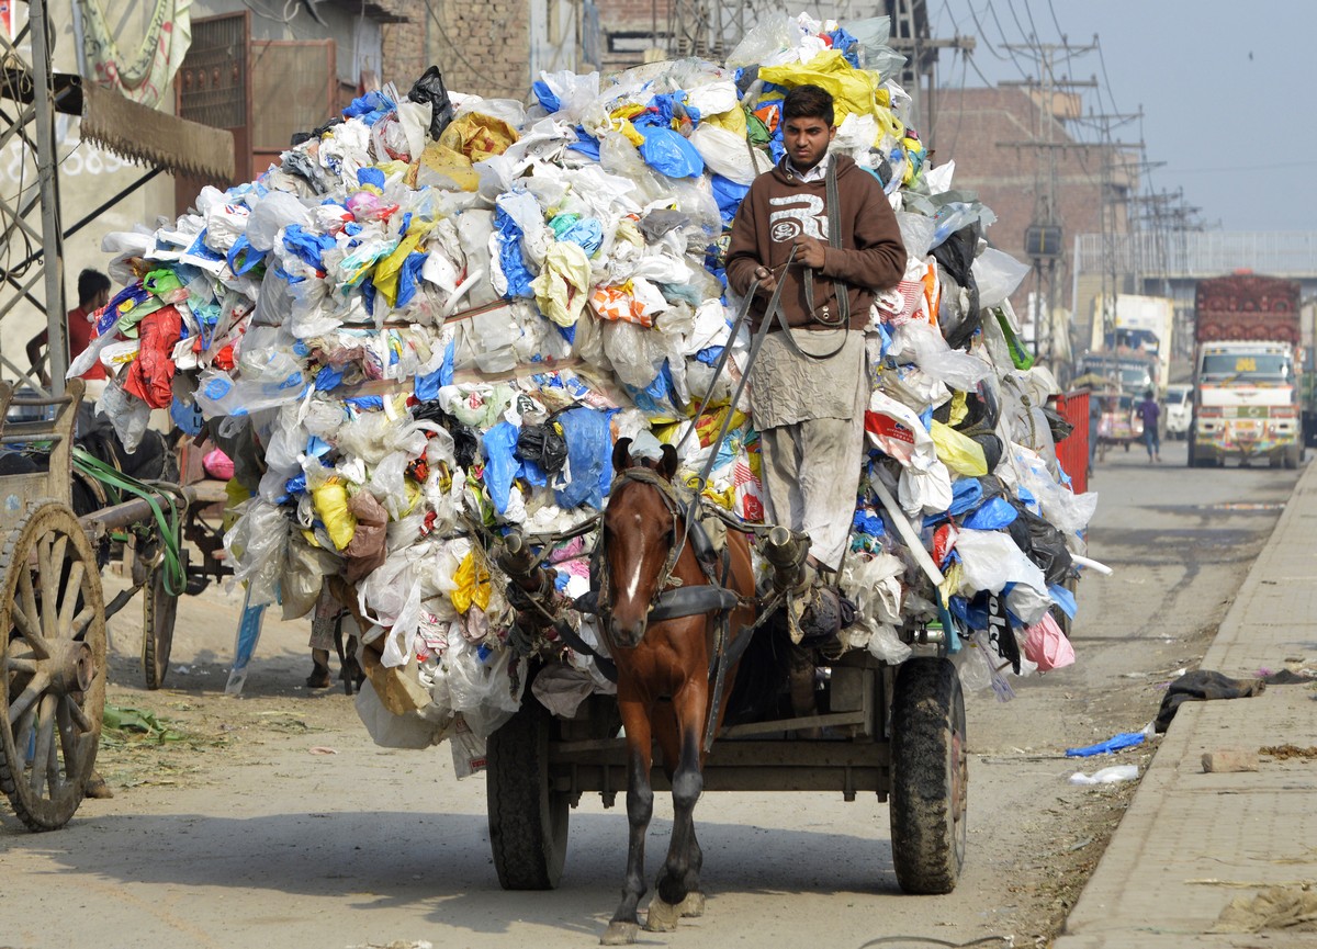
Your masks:
<path fill-rule="evenodd" d="M 828 246 L 822 271 L 814 271 L 815 312 L 822 315 L 826 307 L 827 319 L 838 319 L 834 280 L 842 280 L 849 290 L 851 329 L 864 329 L 877 291 L 894 287 L 905 275 L 905 245 L 878 179 L 848 155 L 831 155 L 828 161 L 836 163 L 842 246 Z M 782 287 L 786 321 L 802 329 L 823 329 L 806 305 L 805 267 L 793 262 L 784 271 L 781 266 L 799 234 L 828 242 L 827 188 L 823 180 L 802 182 L 786 170 L 784 159 L 755 179 L 736 212 L 727 250 L 727 282 L 738 294 L 747 294 L 755 283 L 755 269 L 766 266 L 786 284 Z M 751 307 L 753 329 L 759 329 L 766 305 L 768 296 L 756 296 Z"/>

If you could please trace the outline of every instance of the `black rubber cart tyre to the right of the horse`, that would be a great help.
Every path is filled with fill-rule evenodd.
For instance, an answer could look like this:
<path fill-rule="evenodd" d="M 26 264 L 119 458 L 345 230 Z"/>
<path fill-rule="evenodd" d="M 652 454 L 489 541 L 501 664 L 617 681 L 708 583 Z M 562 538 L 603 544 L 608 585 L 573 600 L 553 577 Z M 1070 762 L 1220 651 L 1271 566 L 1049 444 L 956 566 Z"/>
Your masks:
<path fill-rule="evenodd" d="M 965 859 L 965 699 L 950 659 L 906 659 L 892 702 L 892 861 L 910 894 L 955 890 Z"/>

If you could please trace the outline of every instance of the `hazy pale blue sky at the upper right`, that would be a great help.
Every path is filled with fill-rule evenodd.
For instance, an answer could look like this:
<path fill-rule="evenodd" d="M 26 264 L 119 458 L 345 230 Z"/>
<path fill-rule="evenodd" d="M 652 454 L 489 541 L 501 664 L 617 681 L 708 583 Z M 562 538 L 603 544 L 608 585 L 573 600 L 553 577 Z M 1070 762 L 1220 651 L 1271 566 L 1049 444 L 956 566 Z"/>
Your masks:
<path fill-rule="evenodd" d="M 1147 158 L 1164 162 L 1148 172 L 1155 190 L 1183 187 L 1209 228 L 1317 230 L 1317 3 L 928 0 L 928 17 L 936 37 L 959 26 L 979 39 L 968 67 L 942 54 L 943 86 L 982 86 L 975 66 L 994 83 L 1038 76 L 1035 61 L 1015 51 L 1017 66 L 1004 46 L 1030 34 L 1060 43 L 1062 33 L 1087 46 L 1097 34 L 1101 57 L 1076 54 L 1056 72 L 1096 76 L 1085 112 L 1142 105 Z M 1138 142 L 1139 122 L 1115 137 Z"/>

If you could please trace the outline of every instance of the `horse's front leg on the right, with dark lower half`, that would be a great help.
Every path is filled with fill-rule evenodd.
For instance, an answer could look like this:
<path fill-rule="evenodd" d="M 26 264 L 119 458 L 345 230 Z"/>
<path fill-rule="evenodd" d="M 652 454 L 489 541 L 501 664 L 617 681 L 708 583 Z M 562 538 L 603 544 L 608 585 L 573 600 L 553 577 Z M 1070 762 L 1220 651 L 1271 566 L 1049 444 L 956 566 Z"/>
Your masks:
<path fill-rule="evenodd" d="M 673 821 L 668 861 L 658 875 L 658 892 L 649 903 L 649 916 L 645 920 L 645 928 L 651 931 L 676 929 L 681 916 L 698 916 L 703 912 L 703 896 L 699 894 L 702 857 L 695 841 L 694 813 L 695 802 L 705 790 L 699 769 L 699 742 L 705 733 L 707 709 L 707 687 L 701 680 L 687 682 L 680 695 L 673 698 L 681 748 L 672 774 Z M 693 854 L 697 857 L 695 863 L 691 863 Z M 687 896 L 693 899 L 687 900 Z"/>

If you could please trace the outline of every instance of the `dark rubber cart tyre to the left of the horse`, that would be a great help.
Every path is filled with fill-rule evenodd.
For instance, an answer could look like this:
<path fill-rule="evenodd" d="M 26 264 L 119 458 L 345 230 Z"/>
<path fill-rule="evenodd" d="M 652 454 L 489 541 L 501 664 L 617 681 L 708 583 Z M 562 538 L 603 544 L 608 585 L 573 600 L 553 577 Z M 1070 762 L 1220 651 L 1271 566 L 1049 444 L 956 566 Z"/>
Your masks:
<path fill-rule="evenodd" d="M 549 787 L 553 716 L 533 696 L 489 738 L 490 846 L 504 890 L 553 890 L 568 852 L 566 792 Z"/>

